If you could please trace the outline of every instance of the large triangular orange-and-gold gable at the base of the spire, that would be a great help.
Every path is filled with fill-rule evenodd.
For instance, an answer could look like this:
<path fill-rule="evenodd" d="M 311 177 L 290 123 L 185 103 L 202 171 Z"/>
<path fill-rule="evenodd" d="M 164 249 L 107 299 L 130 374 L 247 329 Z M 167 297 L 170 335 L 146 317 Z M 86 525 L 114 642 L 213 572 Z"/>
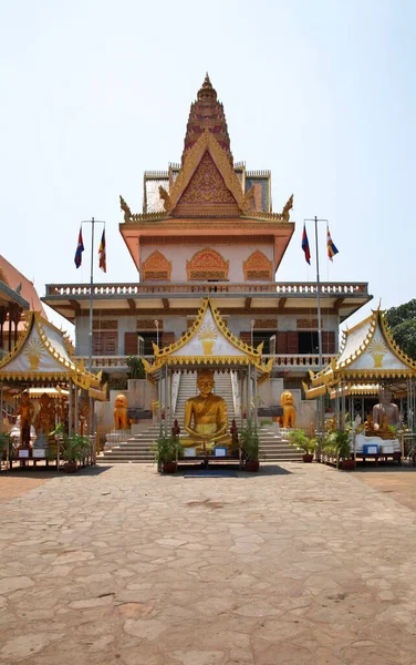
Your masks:
<path fill-rule="evenodd" d="M 159 187 L 159 193 L 165 212 L 174 215 L 178 204 L 195 203 L 200 208 L 201 204 L 207 203 L 207 197 L 209 204 L 231 205 L 238 214 L 252 209 L 252 192 L 243 194 L 238 175 L 225 151 L 208 130 L 186 152 L 184 166 L 170 193 L 163 187 Z"/>

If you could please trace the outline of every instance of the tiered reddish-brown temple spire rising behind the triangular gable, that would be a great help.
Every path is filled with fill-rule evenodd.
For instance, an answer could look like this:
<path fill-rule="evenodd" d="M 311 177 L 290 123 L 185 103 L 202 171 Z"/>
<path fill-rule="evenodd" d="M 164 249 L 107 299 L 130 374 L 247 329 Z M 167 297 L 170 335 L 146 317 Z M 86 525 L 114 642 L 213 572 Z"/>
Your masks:
<path fill-rule="evenodd" d="M 217 91 L 212 88 L 208 72 L 204 83 L 198 90 L 197 100 L 190 105 L 188 124 L 186 127 L 185 145 L 181 161 L 184 163 L 186 152 L 195 145 L 199 136 L 208 130 L 214 134 L 219 145 L 227 153 L 232 165 L 232 153 L 230 150 L 230 137 L 228 135 L 227 120 L 222 104 L 218 101 Z"/>

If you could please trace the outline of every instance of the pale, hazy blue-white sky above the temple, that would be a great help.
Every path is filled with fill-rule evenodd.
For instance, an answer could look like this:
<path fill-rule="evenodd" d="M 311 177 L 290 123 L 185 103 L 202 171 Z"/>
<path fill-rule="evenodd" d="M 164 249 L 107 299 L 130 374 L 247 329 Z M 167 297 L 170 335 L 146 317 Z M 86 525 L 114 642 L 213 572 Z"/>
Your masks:
<path fill-rule="evenodd" d="M 368 282 L 373 307 L 415 297 L 416 2 L 0 8 L 0 253 L 34 277 L 41 296 L 49 283 L 89 282 L 87 233 L 79 270 L 73 258 L 80 221 L 92 215 L 106 221 L 107 236 L 107 273 L 96 258 L 95 280 L 137 279 L 118 233 L 118 195 L 142 212 L 143 172 L 180 160 L 208 71 L 235 160 L 271 170 L 275 212 L 294 194 L 297 228 L 279 282 L 314 279 L 301 235 L 303 218 L 318 215 L 340 250 L 330 264 L 322 225 L 323 280 Z"/>

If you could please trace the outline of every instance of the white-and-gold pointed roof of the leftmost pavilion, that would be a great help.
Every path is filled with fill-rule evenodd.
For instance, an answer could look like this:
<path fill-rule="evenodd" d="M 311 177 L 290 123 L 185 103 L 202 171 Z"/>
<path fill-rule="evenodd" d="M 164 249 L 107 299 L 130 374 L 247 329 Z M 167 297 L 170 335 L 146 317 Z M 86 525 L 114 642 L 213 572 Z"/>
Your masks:
<path fill-rule="evenodd" d="M 81 388 L 100 390 L 101 376 L 86 371 L 73 351 L 62 330 L 40 313 L 29 311 L 18 344 L 0 361 L 0 380 L 55 385 L 72 379 Z"/>

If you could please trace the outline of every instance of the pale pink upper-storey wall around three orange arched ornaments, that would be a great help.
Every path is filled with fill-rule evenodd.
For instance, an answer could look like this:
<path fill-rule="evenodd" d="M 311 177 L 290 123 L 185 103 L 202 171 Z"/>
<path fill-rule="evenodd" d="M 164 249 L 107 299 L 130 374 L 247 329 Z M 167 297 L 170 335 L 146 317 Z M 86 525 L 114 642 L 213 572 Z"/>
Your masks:
<path fill-rule="evenodd" d="M 245 282 L 242 264 L 256 249 L 262 252 L 269 260 L 273 262 L 273 245 L 271 244 L 254 244 L 254 241 L 252 241 L 250 245 L 228 245 L 226 243 L 215 243 L 211 238 L 207 238 L 207 243 L 204 245 L 145 245 L 141 247 L 141 264 L 150 254 L 158 250 L 171 262 L 170 282 L 187 282 L 186 262 L 190 260 L 197 252 L 207 247 L 218 252 L 225 260 L 229 260 L 229 282 Z"/>

